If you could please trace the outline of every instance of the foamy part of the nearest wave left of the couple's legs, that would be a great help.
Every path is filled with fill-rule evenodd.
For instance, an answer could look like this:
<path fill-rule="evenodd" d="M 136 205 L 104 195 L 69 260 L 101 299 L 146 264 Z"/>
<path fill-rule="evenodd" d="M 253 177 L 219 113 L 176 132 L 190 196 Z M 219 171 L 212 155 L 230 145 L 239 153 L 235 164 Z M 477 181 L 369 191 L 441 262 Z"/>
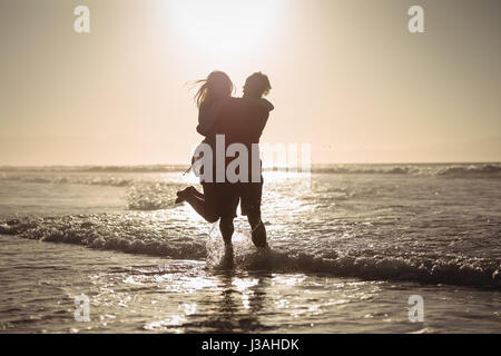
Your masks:
<path fill-rule="evenodd" d="M 173 238 L 160 222 L 108 214 L 12 219 L 0 224 L 0 234 L 179 259 L 206 256 L 203 243 Z"/>

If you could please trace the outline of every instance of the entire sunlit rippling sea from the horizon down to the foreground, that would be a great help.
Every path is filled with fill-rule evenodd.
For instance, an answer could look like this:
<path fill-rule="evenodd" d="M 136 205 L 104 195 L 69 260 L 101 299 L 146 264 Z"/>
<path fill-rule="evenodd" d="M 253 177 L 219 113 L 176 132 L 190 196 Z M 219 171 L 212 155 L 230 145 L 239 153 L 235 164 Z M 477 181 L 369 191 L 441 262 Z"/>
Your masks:
<path fill-rule="evenodd" d="M 0 168 L 0 333 L 501 333 L 500 164 L 266 171 L 233 259 L 185 168 Z"/>

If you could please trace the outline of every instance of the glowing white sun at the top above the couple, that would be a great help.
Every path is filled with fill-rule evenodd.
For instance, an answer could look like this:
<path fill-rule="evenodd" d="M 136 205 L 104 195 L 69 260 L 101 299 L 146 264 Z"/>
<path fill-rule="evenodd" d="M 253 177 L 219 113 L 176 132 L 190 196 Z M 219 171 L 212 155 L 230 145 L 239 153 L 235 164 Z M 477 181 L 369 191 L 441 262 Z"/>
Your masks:
<path fill-rule="evenodd" d="M 242 57 L 277 24 L 283 0 L 174 0 L 176 36 L 196 55 Z"/>

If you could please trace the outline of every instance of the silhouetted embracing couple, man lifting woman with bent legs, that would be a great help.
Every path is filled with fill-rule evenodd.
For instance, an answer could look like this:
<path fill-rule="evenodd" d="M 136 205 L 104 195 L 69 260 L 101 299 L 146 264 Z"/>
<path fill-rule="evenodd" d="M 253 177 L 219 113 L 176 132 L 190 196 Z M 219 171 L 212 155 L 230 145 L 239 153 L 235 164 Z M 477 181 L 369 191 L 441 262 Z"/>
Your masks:
<path fill-rule="evenodd" d="M 232 246 L 233 220 L 238 202 L 247 216 L 256 247 L 266 247 L 266 229 L 261 218 L 263 194 L 262 165 L 258 144 L 273 105 L 262 98 L 272 89 L 268 78 L 256 72 L 247 78 L 244 96 L 233 98 L 234 86 L 222 71 L 213 71 L 199 80 L 195 100 L 198 107 L 198 134 L 205 137 L 199 147 L 206 148 L 197 160 L 207 158 L 197 172 L 204 192 L 187 187 L 177 192 L 176 202 L 187 201 L 208 222 L 219 219 L 219 229 L 227 247 Z M 207 164 L 209 162 L 209 164 Z M 235 178 L 236 177 L 236 178 Z"/>

